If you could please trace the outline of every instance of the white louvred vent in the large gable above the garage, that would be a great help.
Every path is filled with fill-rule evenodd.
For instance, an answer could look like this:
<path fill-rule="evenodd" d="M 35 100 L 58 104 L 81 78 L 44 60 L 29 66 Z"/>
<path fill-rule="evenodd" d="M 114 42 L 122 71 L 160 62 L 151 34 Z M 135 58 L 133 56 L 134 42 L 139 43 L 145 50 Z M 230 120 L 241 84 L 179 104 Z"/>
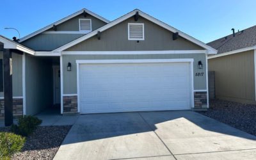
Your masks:
<path fill-rule="evenodd" d="M 128 40 L 144 40 L 143 23 L 128 23 Z"/>

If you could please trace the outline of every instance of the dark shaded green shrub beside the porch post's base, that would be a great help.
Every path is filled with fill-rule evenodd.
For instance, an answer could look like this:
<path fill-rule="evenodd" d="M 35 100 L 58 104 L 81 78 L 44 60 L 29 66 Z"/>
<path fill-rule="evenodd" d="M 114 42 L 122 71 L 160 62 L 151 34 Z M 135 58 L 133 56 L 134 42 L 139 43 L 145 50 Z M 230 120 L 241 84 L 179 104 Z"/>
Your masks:
<path fill-rule="evenodd" d="M 42 120 L 39 120 L 35 116 L 22 116 L 18 119 L 18 125 L 13 124 L 11 131 L 21 136 L 28 136 L 35 131 L 36 126 L 40 125 Z"/>

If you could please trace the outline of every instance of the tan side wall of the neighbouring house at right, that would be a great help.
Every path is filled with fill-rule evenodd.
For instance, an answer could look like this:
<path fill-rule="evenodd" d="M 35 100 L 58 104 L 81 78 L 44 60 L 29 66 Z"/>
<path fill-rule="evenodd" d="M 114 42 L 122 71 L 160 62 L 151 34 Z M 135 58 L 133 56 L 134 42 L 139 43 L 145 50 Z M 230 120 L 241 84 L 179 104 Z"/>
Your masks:
<path fill-rule="evenodd" d="M 209 71 L 215 71 L 216 98 L 255 103 L 253 51 L 209 59 Z"/>

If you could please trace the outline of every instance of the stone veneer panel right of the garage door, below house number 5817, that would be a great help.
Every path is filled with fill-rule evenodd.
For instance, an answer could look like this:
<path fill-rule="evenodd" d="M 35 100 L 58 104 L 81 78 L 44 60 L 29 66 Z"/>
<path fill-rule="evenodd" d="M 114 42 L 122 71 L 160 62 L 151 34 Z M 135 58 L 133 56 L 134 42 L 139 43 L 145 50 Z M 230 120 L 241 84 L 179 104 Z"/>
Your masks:
<path fill-rule="evenodd" d="M 194 109 L 207 109 L 207 92 L 194 92 Z"/>

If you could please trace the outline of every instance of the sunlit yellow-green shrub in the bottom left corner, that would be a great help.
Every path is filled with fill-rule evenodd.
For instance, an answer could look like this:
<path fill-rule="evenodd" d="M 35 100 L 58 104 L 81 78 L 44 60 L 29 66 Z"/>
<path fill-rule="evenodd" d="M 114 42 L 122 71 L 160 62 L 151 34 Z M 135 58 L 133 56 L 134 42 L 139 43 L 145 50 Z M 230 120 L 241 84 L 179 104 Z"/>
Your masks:
<path fill-rule="evenodd" d="M 10 159 L 10 157 L 19 152 L 26 138 L 12 132 L 0 132 L 0 159 Z"/>

